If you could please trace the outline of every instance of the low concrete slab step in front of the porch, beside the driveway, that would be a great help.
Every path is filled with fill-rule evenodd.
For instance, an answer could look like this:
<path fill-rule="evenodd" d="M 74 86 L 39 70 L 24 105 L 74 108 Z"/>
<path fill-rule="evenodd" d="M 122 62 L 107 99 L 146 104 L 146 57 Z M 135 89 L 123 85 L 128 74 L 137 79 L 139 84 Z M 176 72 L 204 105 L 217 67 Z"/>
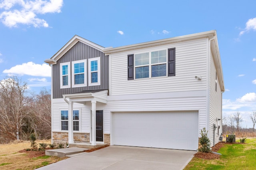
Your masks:
<path fill-rule="evenodd" d="M 45 155 L 64 157 L 67 155 L 76 155 L 76 154 L 85 152 L 86 150 L 89 150 L 89 148 L 73 147 L 73 148 L 50 149 L 45 151 Z"/>

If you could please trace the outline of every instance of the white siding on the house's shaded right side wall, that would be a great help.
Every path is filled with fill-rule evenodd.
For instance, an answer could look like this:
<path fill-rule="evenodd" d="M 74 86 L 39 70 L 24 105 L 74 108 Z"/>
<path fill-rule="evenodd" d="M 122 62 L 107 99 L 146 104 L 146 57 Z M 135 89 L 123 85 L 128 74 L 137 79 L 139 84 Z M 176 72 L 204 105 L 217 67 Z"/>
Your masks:
<path fill-rule="evenodd" d="M 222 120 L 222 115 L 221 115 L 221 105 L 222 105 L 222 95 L 221 95 L 221 89 L 220 89 L 220 83 L 218 81 L 218 75 L 217 75 L 217 91 L 215 89 L 215 82 L 216 82 L 216 67 L 214 65 L 214 61 L 212 58 L 212 55 L 210 57 L 210 105 L 209 108 L 209 114 L 210 114 L 210 120 L 209 120 L 209 139 L 211 141 L 211 146 L 213 146 L 213 138 L 214 138 L 214 131 L 213 131 L 213 124 L 216 125 L 216 130 L 215 130 L 215 140 L 214 144 L 219 142 L 219 137 L 222 132 L 222 126 L 221 126 L 221 120 Z M 217 121 L 217 119 L 221 119 L 220 121 Z M 219 129 L 219 135 L 218 135 L 218 123 L 220 125 Z"/>

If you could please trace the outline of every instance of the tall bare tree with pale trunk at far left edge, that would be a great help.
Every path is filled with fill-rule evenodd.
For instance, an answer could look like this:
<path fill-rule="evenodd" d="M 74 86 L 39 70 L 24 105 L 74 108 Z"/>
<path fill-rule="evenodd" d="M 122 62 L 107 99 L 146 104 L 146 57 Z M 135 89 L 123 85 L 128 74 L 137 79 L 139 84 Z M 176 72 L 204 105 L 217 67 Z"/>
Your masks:
<path fill-rule="evenodd" d="M 33 100 L 26 97 L 27 83 L 15 76 L 0 81 L 0 132 L 5 138 L 19 140 L 19 132 L 25 125 L 24 118 L 32 112 Z"/>

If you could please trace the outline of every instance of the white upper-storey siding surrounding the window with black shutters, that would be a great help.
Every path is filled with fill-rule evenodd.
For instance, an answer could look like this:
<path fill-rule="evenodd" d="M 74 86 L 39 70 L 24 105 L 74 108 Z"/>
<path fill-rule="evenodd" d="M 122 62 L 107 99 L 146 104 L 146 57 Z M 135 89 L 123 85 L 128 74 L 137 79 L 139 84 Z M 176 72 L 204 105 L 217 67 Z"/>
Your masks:
<path fill-rule="evenodd" d="M 176 48 L 176 75 L 127 80 L 127 55 Z M 110 95 L 205 90 L 207 38 L 111 54 Z M 202 80 L 194 77 L 201 75 Z"/>

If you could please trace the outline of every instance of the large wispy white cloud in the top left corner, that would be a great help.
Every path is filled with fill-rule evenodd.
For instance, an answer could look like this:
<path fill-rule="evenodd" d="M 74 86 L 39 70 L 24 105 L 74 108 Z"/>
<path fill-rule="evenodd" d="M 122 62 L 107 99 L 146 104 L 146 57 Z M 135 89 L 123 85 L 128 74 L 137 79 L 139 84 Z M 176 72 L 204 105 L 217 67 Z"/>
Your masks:
<path fill-rule="evenodd" d="M 10 28 L 17 27 L 17 24 L 48 27 L 48 23 L 37 14 L 59 13 L 62 4 L 63 0 L 3 0 L 0 9 L 5 11 L 0 13 L 0 21 Z"/>

